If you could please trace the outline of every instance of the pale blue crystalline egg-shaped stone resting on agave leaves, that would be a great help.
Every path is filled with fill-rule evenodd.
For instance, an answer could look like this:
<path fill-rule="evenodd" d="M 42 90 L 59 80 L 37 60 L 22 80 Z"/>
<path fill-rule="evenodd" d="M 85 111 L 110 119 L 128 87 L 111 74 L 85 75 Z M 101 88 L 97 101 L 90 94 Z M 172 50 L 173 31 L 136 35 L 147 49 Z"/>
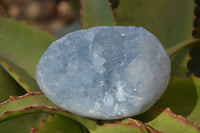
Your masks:
<path fill-rule="evenodd" d="M 53 42 L 37 66 L 44 94 L 59 107 L 97 119 L 149 109 L 165 91 L 170 60 L 142 27 L 101 26 Z"/>

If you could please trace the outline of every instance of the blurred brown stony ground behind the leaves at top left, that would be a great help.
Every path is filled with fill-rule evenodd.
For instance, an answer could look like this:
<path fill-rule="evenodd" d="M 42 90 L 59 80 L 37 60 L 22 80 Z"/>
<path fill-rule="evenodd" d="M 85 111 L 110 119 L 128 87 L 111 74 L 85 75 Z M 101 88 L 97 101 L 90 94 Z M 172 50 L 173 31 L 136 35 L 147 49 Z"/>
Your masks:
<path fill-rule="evenodd" d="M 0 0 L 0 12 L 52 34 L 75 19 L 69 0 Z"/>

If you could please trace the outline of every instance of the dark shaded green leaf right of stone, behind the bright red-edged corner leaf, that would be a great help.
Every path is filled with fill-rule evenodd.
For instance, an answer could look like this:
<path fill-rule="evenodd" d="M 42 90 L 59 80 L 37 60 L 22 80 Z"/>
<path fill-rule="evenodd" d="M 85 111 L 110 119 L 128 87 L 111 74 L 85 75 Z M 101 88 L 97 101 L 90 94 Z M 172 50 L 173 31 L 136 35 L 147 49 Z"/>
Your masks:
<path fill-rule="evenodd" d="M 155 106 L 169 107 L 173 112 L 186 117 L 190 122 L 200 124 L 200 79 L 194 76 L 189 78 L 172 77 L 166 92 Z M 134 118 L 149 123 L 157 119 L 163 112 L 165 111 L 153 107 Z M 169 110 L 167 112 L 169 113 Z"/>

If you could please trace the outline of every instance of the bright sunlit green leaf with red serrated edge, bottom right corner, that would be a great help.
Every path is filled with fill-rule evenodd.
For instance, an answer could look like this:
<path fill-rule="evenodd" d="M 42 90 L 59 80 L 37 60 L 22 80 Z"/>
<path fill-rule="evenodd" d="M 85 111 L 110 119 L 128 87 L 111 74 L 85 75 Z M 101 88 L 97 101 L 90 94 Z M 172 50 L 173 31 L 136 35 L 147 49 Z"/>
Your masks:
<path fill-rule="evenodd" d="M 155 109 L 155 108 L 154 108 Z M 158 110 L 161 112 L 155 119 L 146 125 L 163 131 L 164 133 L 199 133 L 200 128 L 196 124 L 188 122 L 184 117 L 173 114 L 169 108 Z"/>

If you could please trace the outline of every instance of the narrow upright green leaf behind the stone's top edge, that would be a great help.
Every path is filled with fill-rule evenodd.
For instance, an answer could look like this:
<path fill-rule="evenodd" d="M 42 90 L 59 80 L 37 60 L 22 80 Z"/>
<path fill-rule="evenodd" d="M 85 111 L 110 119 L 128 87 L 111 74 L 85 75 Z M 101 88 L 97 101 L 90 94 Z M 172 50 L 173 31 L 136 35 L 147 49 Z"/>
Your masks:
<path fill-rule="evenodd" d="M 80 0 L 82 28 L 115 25 L 108 0 Z"/>

